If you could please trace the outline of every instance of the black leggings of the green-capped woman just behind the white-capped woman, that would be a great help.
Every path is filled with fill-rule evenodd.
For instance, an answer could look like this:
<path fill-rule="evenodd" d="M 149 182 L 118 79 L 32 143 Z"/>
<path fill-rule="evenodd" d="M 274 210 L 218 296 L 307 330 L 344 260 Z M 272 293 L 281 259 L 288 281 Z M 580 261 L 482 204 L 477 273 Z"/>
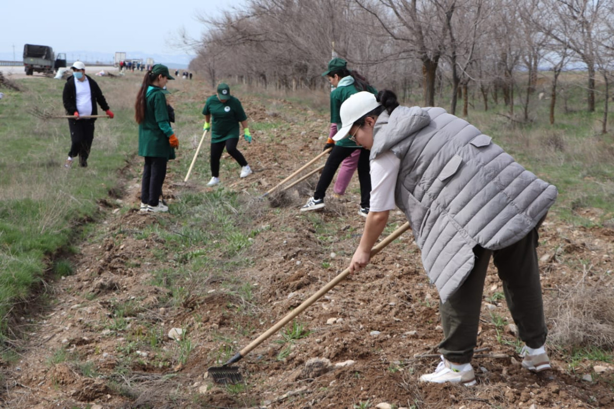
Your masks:
<path fill-rule="evenodd" d="M 313 194 L 314 199 L 324 199 L 326 196 L 326 189 L 330 186 L 330 183 L 335 177 L 335 172 L 339 169 L 343 159 L 352 155 L 352 152 L 360 149 L 360 157 L 358 159 L 358 181 L 360 182 L 360 207 L 369 207 L 371 201 L 371 175 L 369 171 L 371 169 L 369 164 L 370 150 L 364 148 L 345 148 L 335 145 L 333 150 L 328 155 L 324 169 L 322 169 L 322 175 L 317 182 L 316 191 Z"/>

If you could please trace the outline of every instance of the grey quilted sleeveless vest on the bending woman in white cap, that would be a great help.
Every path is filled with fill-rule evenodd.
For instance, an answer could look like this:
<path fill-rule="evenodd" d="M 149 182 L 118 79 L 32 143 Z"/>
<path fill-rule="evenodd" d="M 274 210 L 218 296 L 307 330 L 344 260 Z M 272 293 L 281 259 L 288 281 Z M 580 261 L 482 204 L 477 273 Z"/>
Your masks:
<path fill-rule="evenodd" d="M 397 107 L 379 115 L 370 158 L 401 160 L 397 206 L 411 223 L 442 302 L 473 268 L 473 247 L 499 250 L 548 212 L 556 187 L 524 169 L 491 137 L 442 108 Z"/>

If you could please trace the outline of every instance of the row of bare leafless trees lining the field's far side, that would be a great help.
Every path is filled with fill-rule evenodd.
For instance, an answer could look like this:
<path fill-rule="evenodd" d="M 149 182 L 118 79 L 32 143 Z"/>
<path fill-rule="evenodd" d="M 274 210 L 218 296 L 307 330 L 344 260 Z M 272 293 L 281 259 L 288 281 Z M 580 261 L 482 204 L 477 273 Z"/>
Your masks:
<path fill-rule="evenodd" d="M 502 96 L 510 114 L 520 95 L 527 118 L 546 68 L 551 123 L 564 69 L 586 73 L 593 112 L 597 80 L 607 104 L 614 61 L 614 0 L 247 0 L 201 21 L 203 37 L 184 40 L 197 51 L 190 69 L 212 84 L 235 76 L 267 87 L 324 87 L 321 72 L 336 53 L 376 86 L 402 96 L 421 87 L 424 105 L 435 105 L 449 84 L 452 113 L 472 88 L 484 109 Z"/>

